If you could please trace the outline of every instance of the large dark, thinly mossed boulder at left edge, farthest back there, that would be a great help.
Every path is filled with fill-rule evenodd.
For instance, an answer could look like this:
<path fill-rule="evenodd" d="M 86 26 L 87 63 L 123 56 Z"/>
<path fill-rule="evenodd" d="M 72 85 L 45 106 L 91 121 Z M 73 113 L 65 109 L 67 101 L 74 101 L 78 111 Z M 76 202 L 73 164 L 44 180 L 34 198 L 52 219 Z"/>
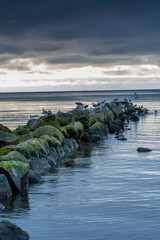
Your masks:
<path fill-rule="evenodd" d="M 16 136 L 15 134 L 0 130 L 0 147 L 9 145 L 9 144 L 18 144 L 18 143 L 19 143 L 18 136 Z"/>

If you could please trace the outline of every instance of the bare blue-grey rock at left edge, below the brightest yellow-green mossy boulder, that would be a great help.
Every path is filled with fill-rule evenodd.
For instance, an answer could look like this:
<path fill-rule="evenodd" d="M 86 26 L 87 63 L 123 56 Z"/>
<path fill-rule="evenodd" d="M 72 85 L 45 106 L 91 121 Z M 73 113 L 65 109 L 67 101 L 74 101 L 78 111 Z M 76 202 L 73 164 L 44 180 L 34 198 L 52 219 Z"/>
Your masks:
<path fill-rule="evenodd" d="M 12 196 L 12 190 L 8 179 L 4 174 L 0 174 L 0 199 L 6 199 Z"/>

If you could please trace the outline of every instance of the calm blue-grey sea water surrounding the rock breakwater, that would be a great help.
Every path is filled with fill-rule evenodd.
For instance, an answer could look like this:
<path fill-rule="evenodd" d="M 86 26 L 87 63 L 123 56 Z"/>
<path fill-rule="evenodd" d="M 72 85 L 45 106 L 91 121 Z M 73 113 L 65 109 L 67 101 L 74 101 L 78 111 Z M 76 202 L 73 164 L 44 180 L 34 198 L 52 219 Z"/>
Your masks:
<path fill-rule="evenodd" d="M 9 220 L 31 240 L 160 239 L 160 90 L 0 93 L 0 123 L 15 129 L 42 109 L 67 112 L 75 102 L 131 99 L 149 109 L 130 122 L 127 141 L 114 135 L 81 144 L 60 160 L 26 196 L 2 202 L 0 220 Z M 155 109 L 158 111 L 155 114 Z M 152 152 L 139 153 L 138 147 Z M 75 167 L 66 168 L 66 159 Z"/>

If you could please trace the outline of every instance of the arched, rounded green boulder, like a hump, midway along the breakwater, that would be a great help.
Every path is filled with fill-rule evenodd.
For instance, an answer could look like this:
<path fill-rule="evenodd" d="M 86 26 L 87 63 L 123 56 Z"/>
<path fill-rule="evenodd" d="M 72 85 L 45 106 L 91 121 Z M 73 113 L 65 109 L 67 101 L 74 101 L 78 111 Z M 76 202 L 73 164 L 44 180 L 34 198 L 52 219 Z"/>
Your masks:
<path fill-rule="evenodd" d="M 64 139 L 63 133 L 59 129 L 52 126 L 43 126 L 43 127 L 37 128 L 33 132 L 33 137 L 35 138 L 40 138 L 43 135 L 53 136 L 57 138 L 61 143 L 63 142 L 63 139 Z"/>

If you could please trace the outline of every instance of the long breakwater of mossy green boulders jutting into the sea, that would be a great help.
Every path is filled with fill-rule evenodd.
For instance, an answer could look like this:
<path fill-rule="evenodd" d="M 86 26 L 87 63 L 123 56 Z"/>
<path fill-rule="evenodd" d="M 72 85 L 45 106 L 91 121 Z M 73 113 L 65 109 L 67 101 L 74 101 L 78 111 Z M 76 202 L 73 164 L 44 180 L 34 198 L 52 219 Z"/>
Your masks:
<path fill-rule="evenodd" d="M 29 185 L 41 181 L 44 172 L 56 168 L 58 160 L 81 142 L 100 141 L 109 133 L 127 140 L 123 132 L 129 121 L 148 112 L 127 99 L 98 102 L 90 108 L 76 104 L 72 111 L 49 112 L 13 131 L 0 124 L 0 200 L 25 194 Z M 72 159 L 64 164 L 74 166 Z"/>

